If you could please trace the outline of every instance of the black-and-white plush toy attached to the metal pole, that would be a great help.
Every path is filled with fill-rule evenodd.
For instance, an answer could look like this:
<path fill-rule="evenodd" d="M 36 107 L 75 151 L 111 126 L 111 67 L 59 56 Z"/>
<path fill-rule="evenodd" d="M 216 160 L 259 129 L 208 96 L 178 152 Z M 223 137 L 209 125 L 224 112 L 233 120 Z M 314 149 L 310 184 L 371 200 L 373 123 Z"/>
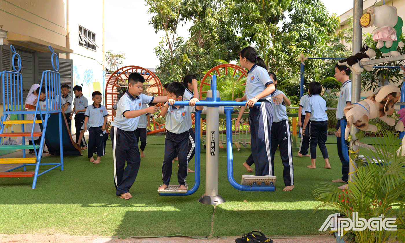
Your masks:
<path fill-rule="evenodd" d="M 348 66 L 354 74 L 361 74 L 363 72 L 363 68 L 360 67 L 359 62 L 368 61 L 370 60 L 370 58 L 373 57 L 375 57 L 375 51 L 370 47 L 368 47 L 367 44 L 364 44 L 362 49 L 360 49 L 360 52 L 350 56 L 345 60 L 340 60 L 337 63 L 341 66 Z M 373 64 L 370 64 L 363 67 L 365 70 L 371 71 L 373 70 L 373 66 L 374 66 Z"/>

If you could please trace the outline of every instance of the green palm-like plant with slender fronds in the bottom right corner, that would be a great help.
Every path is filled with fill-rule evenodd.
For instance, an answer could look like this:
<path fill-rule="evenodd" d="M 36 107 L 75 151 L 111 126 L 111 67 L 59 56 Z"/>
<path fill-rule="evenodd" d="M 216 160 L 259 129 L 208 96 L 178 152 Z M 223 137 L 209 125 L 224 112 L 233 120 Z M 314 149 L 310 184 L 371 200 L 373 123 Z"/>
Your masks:
<path fill-rule="evenodd" d="M 387 131 L 375 139 L 373 148 L 361 151 L 367 162 L 359 159 L 358 151 L 350 151 L 350 162 L 358 167 L 347 189 L 322 183 L 314 190 L 322 202 L 316 209 L 331 207 L 353 223 L 364 222 L 365 227 L 354 224 L 343 231 L 346 242 L 405 242 L 405 158 L 396 154 L 401 141 Z"/>

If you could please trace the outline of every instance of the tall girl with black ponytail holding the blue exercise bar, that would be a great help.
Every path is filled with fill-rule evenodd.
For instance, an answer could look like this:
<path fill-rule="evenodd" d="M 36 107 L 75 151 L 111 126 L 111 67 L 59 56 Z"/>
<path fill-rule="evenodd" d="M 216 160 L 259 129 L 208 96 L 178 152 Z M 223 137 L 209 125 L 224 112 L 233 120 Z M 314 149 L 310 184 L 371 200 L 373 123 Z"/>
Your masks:
<path fill-rule="evenodd" d="M 256 175 L 274 175 L 270 148 L 271 124 L 274 115 L 271 93 L 275 91 L 275 86 L 269 77 L 266 64 L 262 58 L 258 57 L 256 49 L 253 47 L 242 49 L 239 53 L 239 62 L 242 68 L 249 70 L 247 72 L 246 95 L 240 100 L 247 100 L 246 106 L 250 107 L 250 141 L 255 173 Z M 262 102 L 261 105 L 254 106 L 258 101 Z"/>

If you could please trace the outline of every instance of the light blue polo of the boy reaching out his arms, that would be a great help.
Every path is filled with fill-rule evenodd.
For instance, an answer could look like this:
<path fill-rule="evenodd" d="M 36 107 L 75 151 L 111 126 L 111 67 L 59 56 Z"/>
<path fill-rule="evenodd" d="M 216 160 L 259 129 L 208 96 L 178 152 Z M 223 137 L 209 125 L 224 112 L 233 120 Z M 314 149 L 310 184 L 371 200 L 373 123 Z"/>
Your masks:
<path fill-rule="evenodd" d="M 124 113 L 126 111 L 137 111 L 142 109 L 142 104 L 149 104 L 153 102 L 153 96 L 140 94 L 133 97 L 130 93 L 125 94 L 119 99 L 117 103 L 117 115 L 111 122 L 111 126 L 115 126 L 127 132 L 133 132 L 138 127 L 139 116 L 134 118 L 126 118 Z"/>

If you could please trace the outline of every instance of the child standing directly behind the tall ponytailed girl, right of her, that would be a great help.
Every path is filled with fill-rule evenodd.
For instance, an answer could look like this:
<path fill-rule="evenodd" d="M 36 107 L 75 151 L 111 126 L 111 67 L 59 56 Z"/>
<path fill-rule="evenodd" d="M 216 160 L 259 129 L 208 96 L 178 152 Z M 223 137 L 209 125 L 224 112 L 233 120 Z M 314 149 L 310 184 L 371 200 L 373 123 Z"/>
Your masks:
<path fill-rule="evenodd" d="M 288 123 L 288 116 L 286 106 L 291 105 L 291 101 L 284 95 L 284 92 L 277 90 L 277 77 L 274 72 L 269 72 L 269 76 L 273 79 L 276 90 L 271 93 L 273 102 L 274 118 L 271 124 L 271 164 L 274 167 L 274 155 L 277 147 L 280 147 L 280 157 L 283 163 L 283 178 L 284 185 L 286 186 L 283 191 L 291 191 L 294 189 L 294 165 L 292 163 L 292 147 L 290 137 L 290 124 Z M 282 102 L 276 99 L 282 98 Z"/>

